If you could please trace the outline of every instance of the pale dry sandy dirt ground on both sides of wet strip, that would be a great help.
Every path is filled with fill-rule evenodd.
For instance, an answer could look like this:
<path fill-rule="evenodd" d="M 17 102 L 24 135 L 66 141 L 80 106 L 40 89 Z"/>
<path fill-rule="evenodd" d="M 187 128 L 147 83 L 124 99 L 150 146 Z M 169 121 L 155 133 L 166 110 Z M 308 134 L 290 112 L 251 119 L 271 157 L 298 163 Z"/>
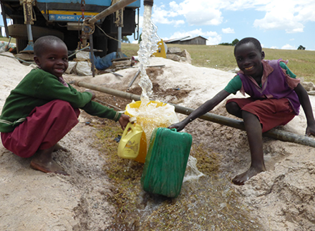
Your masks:
<path fill-rule="evenodd" d="M 4 56 L 0 60 L 1 108 L 11 89 L 32 67 Z M 165 65 L 147 70 L 154 86 L 152 98 L 190 108 L 197 108 L 221 91 L 235 75 L 163 58 L 152 58 L 150 65 Z M 136 72 L 137 68 L 128 68 L 117 72 L 123 77 L 68 74 L 65 79 L 79 79 L 140 95 L 139 78 L 128 89 Z M 311 95 L 310 98 L 315 108 L 315 98 Z M 97 99 L 121 111 L 130 103 L 105 93 L 97 93 Z M 235 119 L 228 115 L 223 103 L 213 113 Z M 179 119 L 184 117 L 178 114 Z M 0 230 L 94 231 L 109 227 L 116 208 L 106 200 L 106 195 L 111 193 L 111 180 L 101 169 L 110 163 L 92 145 L 96 128 L 89 124 L 96 118 L 82 113 L 79 119 L 80 123 L 60 141 L 69 152 L 54 153 L 56 161 L 70 176 L 34 171 L 29 167 L 30 159 L 21 159 L 0 145 Z M 301 112 L 280 129 L 303 135 L 305 128 L 306 120 Z M 244 131 L 197 119 L 185 132 L 192 134 L 194 143 L 202 143 L 221 154 L 220 168 L 231 178 L 248 168 L 249 147 Z M 240 192 L 240 202 L 253 208 L 252 216 L 258 218 L 264 230 L 315 230 L 314 147 L 264 138 L 264 154 L 267 171 L 249 179 L 244 186 L 234 186 Z"/>

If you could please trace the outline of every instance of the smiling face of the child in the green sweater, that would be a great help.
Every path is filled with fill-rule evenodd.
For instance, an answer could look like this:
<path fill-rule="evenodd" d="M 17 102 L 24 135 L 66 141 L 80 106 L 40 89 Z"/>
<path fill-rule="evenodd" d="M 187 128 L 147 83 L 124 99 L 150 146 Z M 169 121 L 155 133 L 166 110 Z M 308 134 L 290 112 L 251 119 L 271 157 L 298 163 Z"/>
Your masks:
<path fill-rule="evenodd" d="M 36 64 L 45 72 L 61 77 L 68 68 L 68 48 L 65 44 L 54 41 L 42 47 L 44 51 L 34 56 Z"/>

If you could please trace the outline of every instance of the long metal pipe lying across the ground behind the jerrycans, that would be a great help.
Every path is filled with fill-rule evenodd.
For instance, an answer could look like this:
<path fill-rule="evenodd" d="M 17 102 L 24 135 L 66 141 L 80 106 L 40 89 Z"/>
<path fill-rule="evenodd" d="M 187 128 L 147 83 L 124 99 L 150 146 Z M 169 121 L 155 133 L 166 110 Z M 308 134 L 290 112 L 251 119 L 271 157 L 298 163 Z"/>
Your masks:
<path fill-rule="evenodd" d="M 110 95 L 115 95 L 115 96 L 118 96 L 121 98 L 127 98 L 130 100 L 136 100 L 136 101 L 141 100 L 140 95 L 126 93 L 123 91 L 117 91 L 117 90 L 113 90 L 111 88 L 106 88 L 104 86 L 97 86 L 94 84 L 88 84 L 88 83 L 83 82 L 83 81 L 75 81 L 74 84 L 76 86 L 82 86 L 82 87 L 90 88 L 90 89 L 95 90 L 95 91 L 101 91 L 103 93 L 108 93 Z M 172 103 L 168 103 L 168 104 L 173 105 L 175 107 L 175 112 L 178 112 L 180 114 L 188 115 L 194 111 L 193 109 L 188 108 L 188 107 L 182 107 L 180 105 L 174 105 Z M 201 117 L 199 117 L 199 119 L 212 121 L 216 124 L 223 124 L 226 126 L 230 126 L 230 127 L 245 131 L 244 122 L 240 121 L 238 119 L 230 119 L 228 117 L 223 117 L 223 116 L 220 116 L 218 114 L 212 114 L 209 112 L 202 115 Z M 313 138 L 310 138 L 307 136 L 297 135 L 295 133 L 290 133 L 288 131 L 281 131 L 281 130 L 278 130 L 275 128 L 271 129 L 270 131 L 263 133 L 263 136 L 273 138 L 276 140 L 283 140 L 283 141 L 287 141 L 287 142 L 291 142 L 291 143 L 298 143 L 300 145 L 307 145 L 307 146 L 315 147 L 315 140 Z"/>

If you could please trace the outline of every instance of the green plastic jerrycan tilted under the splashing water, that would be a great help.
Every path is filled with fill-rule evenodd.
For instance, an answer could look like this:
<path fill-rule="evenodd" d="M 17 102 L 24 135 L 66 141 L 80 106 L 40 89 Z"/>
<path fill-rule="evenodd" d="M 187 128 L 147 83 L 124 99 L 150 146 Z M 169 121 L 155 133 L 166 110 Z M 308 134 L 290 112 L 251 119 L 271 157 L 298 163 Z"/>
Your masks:
<path fill-rule="evenodd" d="M 191 145 L 189 133 L 154 128 L 141 177 L 144 191 L 178 197 Z"/>

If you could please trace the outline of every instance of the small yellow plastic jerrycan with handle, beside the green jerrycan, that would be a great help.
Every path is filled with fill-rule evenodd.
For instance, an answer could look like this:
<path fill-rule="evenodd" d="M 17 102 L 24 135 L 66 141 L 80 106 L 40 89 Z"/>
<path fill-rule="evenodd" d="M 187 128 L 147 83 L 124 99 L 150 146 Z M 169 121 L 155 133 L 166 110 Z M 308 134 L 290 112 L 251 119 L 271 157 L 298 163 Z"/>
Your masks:
<path fill-rule="evenodd" d="M 137 121 L 136 117 L 131 117 L 129 121 L 118 145 L 118 157 L 135 159 L 140 150 L 142 127 L 135 123 Z"/>

